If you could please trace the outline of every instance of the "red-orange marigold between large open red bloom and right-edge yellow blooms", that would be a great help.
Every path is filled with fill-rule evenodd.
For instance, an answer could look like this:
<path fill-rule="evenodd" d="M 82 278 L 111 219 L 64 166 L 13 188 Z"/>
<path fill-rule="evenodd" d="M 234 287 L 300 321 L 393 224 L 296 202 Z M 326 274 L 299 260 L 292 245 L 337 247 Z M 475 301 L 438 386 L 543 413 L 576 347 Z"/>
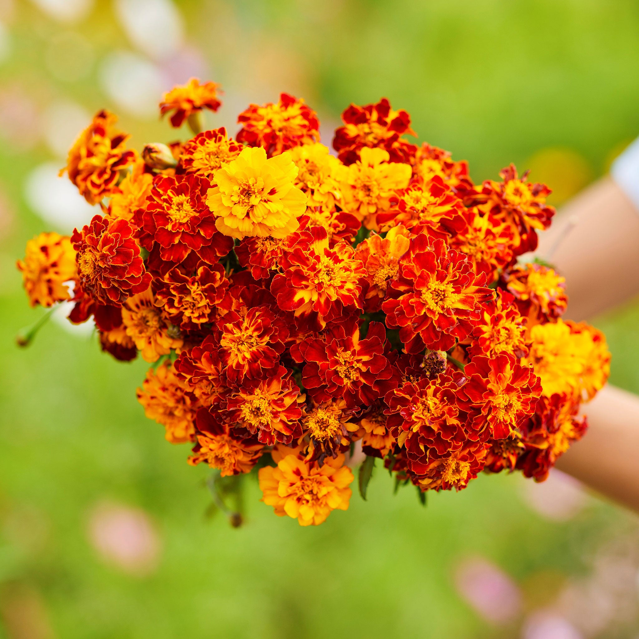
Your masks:
<path fill-rule="evenodd" d="M 521 316 L 512 295 L 498 289 L 497 299 L 486 304 L 481 319 L 473 328 L 468 354 L 471 357 L 495 357 L 499 353 L 511 353 L 515 357 L 527 355 L 526 328 L 526 318 Z"/>

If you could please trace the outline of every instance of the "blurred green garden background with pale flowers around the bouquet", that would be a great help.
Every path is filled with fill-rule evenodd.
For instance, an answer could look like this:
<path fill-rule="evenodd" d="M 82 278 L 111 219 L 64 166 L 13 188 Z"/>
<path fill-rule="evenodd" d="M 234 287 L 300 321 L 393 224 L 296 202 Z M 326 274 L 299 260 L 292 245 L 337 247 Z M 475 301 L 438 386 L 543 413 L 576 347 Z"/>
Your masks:
<path fill-rule="evenodd" d="M 42 314 L 26 240 L 91 217 L 55 171 L 100 107 L 138 148 L 185 137 L 157 102 L 196 75 L 226 91 L 210 125 L 288 91 L 330 144 L 349 102 L 387 96 L 476 181 L 516 162 L 561 204 L 639 133 L 638 60 L 636 0 L 1 1 L 0 637 L 637 639 L 637 520 L 560 473 L 424 509 L 378 468 L 368 502 L 311 529 L 251 481 L 235 530 L 144 418 L 144 362 L 63 321 L 13 338 Z M 637 304 L 594 321 L 636 392 L 638 322 Z"/>

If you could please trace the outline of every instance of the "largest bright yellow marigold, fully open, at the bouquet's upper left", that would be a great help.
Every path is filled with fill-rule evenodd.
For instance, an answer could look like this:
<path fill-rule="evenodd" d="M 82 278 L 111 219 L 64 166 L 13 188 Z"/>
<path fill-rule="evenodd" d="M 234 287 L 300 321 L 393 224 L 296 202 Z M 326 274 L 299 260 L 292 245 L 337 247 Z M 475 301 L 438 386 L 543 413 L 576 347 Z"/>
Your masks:
<path fill-rule="evenodd" d="M 297 173 L 290 153 L 267 159 L 263 148 L 245 148 L 213 174 L 206 204 L 217 230 L 240 240 L 293 233 L 306 209 L 306 196 L 294 185 Z"/>

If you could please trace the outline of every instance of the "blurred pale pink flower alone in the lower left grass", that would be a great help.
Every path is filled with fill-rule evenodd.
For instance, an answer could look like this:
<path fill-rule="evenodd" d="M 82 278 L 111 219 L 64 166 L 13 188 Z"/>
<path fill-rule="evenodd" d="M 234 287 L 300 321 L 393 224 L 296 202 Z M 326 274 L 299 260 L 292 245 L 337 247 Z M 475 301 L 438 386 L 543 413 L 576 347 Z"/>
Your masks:
<path fill-rule="evenodd" d="M 98 504 L 89 519 L 89 542 L 107 563 L 144 576 L 157 569 L 160 538 L 146 512 L 122 504 Z"/>

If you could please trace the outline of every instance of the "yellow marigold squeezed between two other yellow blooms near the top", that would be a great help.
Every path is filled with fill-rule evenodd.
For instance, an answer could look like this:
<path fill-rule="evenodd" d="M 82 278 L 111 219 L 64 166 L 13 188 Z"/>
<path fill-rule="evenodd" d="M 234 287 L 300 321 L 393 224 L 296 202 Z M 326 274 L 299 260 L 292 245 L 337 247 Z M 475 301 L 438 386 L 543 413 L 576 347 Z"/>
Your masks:
<path fill-rule="evenodd" d="M 299 169 L 295 186 L 307 195 L 307 206 L 333 210 L 342 199 L 339 184 L 346 176 L 346 167 L 319 142 L 295 146 L 289 153 Z"/>

